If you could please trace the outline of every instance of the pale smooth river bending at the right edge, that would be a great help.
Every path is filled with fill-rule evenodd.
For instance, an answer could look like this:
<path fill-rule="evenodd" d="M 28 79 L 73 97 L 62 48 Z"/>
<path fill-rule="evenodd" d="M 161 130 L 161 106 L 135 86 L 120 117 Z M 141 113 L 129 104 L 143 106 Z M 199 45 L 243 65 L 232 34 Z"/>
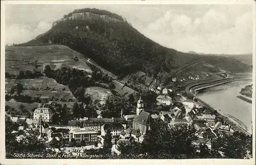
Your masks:
<path fill-rule="evenodd" d="M 252 84 L 251 80 L 228 82 L 201 89 L 198 91 L 197 97 L 214 107 L 219 113 L 233 116 L 234 120 L 244 124 L 248 132 L 251 133 L 252 104 L 237 98 L 237 96 L 243 96 L 239 93 L 241 89 L 250 84 Z M 252 98 L 249 99 L 252 100 Z"/>

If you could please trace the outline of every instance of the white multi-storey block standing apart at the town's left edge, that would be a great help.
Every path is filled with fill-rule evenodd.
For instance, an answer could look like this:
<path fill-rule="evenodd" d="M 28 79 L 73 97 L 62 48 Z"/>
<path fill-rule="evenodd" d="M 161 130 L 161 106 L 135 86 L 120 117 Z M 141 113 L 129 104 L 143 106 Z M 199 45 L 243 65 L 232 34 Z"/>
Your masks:
<path fill-rule="evenodd" d="M 52 111 L 49 108 L 37 108 L 34 111 L 33 119 L 40 119 L 42 116 L 42 121 L 44 122 L 52 122 Z"/>

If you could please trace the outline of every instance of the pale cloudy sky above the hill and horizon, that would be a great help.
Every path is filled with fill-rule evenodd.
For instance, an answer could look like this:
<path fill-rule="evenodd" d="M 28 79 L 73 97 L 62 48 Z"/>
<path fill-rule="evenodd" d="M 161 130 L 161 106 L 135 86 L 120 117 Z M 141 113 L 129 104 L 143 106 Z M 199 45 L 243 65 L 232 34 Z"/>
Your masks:
<path fill-rule="evenodd" d="M 181 52 L 252 53 L 252 5 L 6 5 L 6 44 L 27 42 L 74 9 L 121 15 L 146 37 Z M 255 29 L 255 28 L 254 28 Z"/>

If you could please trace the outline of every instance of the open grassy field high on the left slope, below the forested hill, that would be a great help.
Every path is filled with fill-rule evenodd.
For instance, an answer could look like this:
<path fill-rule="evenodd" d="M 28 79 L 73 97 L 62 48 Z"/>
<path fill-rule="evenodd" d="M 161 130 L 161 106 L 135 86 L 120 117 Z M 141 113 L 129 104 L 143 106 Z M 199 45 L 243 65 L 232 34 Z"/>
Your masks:
<path fill-rule="evenodd" d="M 74 56 L 82 55 L 63 45 L 6 46 L 6 72 L 17 75 L 19 70 L 33 70 L 35 61 L 41 71 L 46 65 L 52 69 L 64 66 L 91 69 L 86 63 L 74 61 Z"/>

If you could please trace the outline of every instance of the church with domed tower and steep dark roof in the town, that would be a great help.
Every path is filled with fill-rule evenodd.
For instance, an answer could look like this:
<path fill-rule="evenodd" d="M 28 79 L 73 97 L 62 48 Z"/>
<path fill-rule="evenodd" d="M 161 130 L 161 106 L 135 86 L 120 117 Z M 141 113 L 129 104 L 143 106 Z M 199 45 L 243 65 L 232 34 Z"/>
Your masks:
<path fill-rule="evenodd" d="M 154 124 L 150 113 L 144 111 L 144 102 L 140 99 L 137 102 L 136 116 L 133 119 L 133 129 L 139 130 L 141 135 L 144 135 L 147 130 L 151 130 Z"/>

